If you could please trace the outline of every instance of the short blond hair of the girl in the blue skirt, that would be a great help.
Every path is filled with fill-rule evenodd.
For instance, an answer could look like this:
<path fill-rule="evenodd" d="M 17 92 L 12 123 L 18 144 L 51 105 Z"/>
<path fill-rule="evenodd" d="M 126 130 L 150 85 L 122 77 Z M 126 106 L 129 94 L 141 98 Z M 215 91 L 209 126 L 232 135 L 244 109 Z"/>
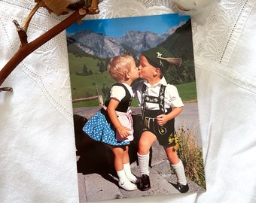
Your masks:
<path fill-rule="evenodd" d="M 124 79 L 124 75 L 131 69 L 131 62 L 134 59 L 129 55 L 114 56 L 108 63 L 108 72 L 114 80 L 119 82 Z"/>

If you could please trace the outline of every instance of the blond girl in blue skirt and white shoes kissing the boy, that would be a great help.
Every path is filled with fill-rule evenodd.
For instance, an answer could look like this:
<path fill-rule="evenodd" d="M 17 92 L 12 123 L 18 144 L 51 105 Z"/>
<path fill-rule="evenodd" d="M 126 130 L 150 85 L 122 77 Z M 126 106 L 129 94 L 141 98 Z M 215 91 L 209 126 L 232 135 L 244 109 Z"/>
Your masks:
<path fill-rule="evenodd" d="M 128 154 L 133 141 L 133 119 L 130 104 L 133 80 L 139 77 L 136 62 L 132 56 L 115 56 L 108 64 L 108 72 L 116 80 L 111 87 L 104 107 L 84 126 L 84 132 L 96 141 L 102 141 L 114 153 L 114 168 L 119 186 L 126 190 L 137 189 L 137 177 L 131 173 Z"/>

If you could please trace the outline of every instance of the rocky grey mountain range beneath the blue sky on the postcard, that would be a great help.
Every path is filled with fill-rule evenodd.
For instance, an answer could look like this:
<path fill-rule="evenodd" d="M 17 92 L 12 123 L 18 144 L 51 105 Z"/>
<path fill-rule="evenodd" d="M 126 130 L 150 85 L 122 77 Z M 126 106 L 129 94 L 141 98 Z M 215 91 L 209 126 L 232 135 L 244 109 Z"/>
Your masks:
<path fill-rule="evenodd" d="M 173 35 L 184 23 L 186 22 L 181 22 L 180 25 L 172 27 L 163 35 L 158 35 L 151 31 L 140 32 L 131 30 L 120 38 L 113 38 L 84 29 L 67 36 L 69 53 L 75 53 L 77 52 L 76 49 L 78 49 L 100 58 L 110 58 L 120 55 L 123 53 L 123 50 L 128 49 L 133 50 L 139 56 L 142 51 L 157 47 L 158 44 L 163 43 L 166 38 Z"/>

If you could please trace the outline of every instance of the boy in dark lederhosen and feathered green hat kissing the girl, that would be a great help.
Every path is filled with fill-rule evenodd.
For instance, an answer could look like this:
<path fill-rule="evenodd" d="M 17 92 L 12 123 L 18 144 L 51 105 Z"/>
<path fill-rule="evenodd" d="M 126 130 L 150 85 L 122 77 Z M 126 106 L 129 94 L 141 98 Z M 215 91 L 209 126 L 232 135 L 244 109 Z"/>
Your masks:
<path fill-rule="evenodd" d="M 139 140 L 138 162 L 141 173 L 139 189 L 151 188 L 149 180 L 149 150 L 155 141 L 163 146 L 177 176 L 177 189 L 188 191 L 184 166 L 178 158 L 178 137 L 175 117 L 183 110 L 183 102 L 175 86 L 166 82 L 163 74 L 169 63 L 181 65 L 181 59 L 164 58 L 165 50 L 145 51 L 140 57 L 139 77 L 145 79 L 136 86 L 136 96 L 142 108 L 143 130 Z"/>

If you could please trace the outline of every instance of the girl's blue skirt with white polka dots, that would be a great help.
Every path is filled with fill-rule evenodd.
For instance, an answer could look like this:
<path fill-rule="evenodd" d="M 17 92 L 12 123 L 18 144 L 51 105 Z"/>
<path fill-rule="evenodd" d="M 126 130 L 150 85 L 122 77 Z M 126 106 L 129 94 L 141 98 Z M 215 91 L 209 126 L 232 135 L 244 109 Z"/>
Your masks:
<path fill-rule="evenodd" d="M 111 129 L 110 123 L 108 123 L 104 114 L 100 111 L 85 123 L 83 130 L 95 141 L 104 142 L 113 146 L 130 144 L 130 141 L 117 141 L 115 132 Z"/>

